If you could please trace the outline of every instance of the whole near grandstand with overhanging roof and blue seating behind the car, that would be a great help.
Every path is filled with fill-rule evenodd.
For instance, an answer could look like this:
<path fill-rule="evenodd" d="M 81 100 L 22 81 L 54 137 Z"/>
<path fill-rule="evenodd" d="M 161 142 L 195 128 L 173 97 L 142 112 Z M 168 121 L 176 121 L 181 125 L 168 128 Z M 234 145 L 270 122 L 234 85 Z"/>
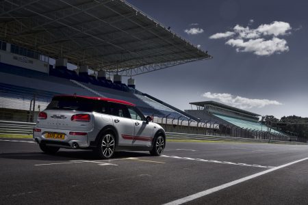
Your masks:
<path fill-rule="evenodd" d="M 133 102 L 165 128 L 201 129 L 198 119 L 136 90 L 133 76 L 211 56 L 133 5 L 122 0 L 0 4 L 0 120 L 36 122 L 52 96 L 79 94 Z M 129 77 L 127 84 L 122 77 Z"/>

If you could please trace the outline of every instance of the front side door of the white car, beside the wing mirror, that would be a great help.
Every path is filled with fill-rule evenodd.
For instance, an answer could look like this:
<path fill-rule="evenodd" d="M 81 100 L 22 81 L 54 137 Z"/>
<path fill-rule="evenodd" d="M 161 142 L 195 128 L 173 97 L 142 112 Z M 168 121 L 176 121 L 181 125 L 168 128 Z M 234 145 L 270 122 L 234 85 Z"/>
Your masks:
<path fill-rule="evenodd" d="M 128 107 L 128 111 L 133 120 L 133 145 L 151 146 L 153 126 L 146 123 L 144 115 L 136 107 Z"/>

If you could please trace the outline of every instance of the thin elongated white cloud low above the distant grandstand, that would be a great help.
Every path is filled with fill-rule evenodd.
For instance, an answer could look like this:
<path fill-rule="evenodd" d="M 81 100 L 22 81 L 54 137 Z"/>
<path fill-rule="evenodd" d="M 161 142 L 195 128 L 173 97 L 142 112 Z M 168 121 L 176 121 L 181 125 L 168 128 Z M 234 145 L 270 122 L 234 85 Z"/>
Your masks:
<path fill-rule="evenodd" d="M 251 99 L 251 98 L 244 98 L 241 96 L 233 96 L 227 93 L 220 94 L 220 93 L 205 92 L 205 94 L 203 94 L 203 97 L 209 99 L 216 99 L 224 104 L 233 107 L 238 107 L 240 109 L 251 109 L 253 107 L 261 108 L 267 105 L 282 105 L 282 103 L 278 102 L 277 100 Z"/>

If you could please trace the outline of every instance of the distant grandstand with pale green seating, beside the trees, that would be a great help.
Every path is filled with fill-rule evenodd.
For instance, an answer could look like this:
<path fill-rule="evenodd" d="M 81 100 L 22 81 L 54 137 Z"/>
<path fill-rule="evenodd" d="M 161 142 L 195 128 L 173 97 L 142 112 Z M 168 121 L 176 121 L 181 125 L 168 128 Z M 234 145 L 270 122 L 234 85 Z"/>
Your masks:
<path fill-rule="evenodd" d="M 224 105 L 220 102 L 190 102 L 196 109 L 185 110 L 203 121 L 219 124 L 219 129 L 235 137 L 293 140 L 289 135 L 259 122 L 259 114 Z"/>

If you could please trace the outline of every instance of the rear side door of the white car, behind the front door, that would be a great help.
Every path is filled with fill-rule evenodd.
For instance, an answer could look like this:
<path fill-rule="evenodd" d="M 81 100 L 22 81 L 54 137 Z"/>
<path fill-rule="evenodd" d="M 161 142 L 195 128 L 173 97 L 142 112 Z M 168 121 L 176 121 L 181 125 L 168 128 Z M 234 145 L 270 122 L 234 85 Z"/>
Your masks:
<path fill-rule="evenodd" d="M 129 116 L 127 107 L 110 102 L 110 113 L 114 127 L 118 131 L 118 145 L 131 146 L 133 144 L 133 120 Z"/>

